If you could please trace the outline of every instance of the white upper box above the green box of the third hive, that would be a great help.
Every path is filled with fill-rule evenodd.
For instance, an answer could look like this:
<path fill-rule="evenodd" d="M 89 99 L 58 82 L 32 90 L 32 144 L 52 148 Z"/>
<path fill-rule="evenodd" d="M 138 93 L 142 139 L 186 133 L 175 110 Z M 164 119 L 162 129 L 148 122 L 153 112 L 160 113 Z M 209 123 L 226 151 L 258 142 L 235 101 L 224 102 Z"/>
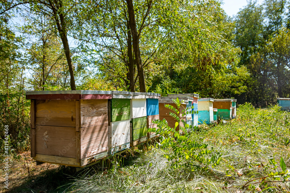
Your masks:
<path fill-rule="evenodd" d="M 131 119 L 146 116 L 146 98 L 131 99 L 130 109 Z"/>

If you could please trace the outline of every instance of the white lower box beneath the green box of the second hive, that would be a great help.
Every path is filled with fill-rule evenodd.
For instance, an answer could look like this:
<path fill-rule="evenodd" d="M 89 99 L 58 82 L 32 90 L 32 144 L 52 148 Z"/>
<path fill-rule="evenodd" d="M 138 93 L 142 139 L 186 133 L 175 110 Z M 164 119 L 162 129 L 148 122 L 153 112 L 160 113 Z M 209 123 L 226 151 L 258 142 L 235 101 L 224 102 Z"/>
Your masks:
<path fill-rule="evenodd" d="M 111 122 L 111 144 L 109 148 L 130 143 L 130 120 Z"/>

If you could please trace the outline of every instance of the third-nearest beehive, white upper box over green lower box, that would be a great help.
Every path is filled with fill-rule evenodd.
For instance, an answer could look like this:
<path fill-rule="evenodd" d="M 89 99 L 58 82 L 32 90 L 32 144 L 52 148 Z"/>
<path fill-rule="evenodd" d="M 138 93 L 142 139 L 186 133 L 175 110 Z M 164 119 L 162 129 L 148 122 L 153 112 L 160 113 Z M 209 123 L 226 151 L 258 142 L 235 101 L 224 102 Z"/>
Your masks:
<path fill-rule="evenodd" d="M 131 99 L 130 146 L 147 140 L 147 93 L 133 93 Z"/>

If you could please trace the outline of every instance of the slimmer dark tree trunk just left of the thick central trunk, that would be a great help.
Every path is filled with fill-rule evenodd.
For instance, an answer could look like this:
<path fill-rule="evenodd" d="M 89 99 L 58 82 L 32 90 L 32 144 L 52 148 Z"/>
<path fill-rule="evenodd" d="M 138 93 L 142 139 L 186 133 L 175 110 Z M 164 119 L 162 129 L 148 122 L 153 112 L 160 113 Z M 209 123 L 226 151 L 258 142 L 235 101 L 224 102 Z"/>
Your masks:
<path fill-rule="evenodd" d="M 127 38 L 127 44 L 128 44 L 128 58 L 129 58 L 129 89 L 131 92 L 135 92 L 135 80 L 134 80 L 134 58 L 133 58 L 133 52 L 132 52 L 132 35 L 131 30 L 129 27 L 129 23 L 127 24 L 127 30 L 128 30 L 128 38 Z"/>

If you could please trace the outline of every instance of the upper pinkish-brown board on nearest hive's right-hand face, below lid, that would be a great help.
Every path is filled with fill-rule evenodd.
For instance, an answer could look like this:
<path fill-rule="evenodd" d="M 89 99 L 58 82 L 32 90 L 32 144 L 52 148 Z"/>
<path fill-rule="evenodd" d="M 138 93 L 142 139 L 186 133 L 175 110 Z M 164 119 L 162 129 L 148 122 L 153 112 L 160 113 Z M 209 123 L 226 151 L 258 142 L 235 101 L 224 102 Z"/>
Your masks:
<path fill-rule="evenodd" d="M 108 124 L 108 100 L 81 100 L 81 127 Z"/>

